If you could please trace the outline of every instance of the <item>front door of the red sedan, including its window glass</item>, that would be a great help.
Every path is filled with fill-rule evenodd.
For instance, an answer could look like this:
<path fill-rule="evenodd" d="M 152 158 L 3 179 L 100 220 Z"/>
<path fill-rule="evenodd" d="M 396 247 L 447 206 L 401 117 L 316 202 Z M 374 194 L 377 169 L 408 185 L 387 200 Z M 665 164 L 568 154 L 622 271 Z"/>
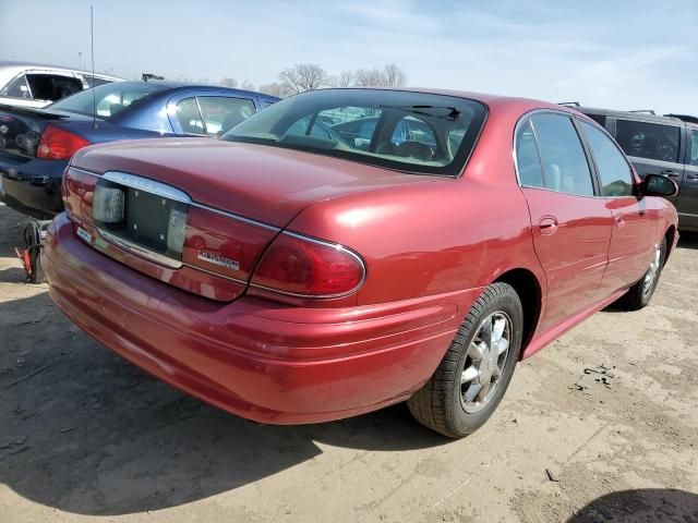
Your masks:
<path fill-rule="evenodd" d="M 623 153 L 601 129 L 579 122 L 592 155 L 601 196 L 613 215 L 609 267 L 599 300 L 635 283 L 647 270 L 657 236 L 658 210 L 638 197 L 638 187 Z"/>

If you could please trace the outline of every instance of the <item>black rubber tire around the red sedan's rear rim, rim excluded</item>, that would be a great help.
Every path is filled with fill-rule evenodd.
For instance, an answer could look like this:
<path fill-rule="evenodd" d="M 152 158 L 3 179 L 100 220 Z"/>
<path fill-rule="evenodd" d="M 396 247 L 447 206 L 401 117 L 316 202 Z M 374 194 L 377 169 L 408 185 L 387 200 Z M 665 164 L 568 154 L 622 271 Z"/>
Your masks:
<path fill-rule="evenodd" d="M 469 348 L 483 321 L 504 314 L 510 320 L 508 352 L 491 397 L 478 412 L 466 412 L 461 398 L 461 374 L 469 361 Z M 480 428 L 496 410 L 509 385 L 521 350 L 524 311 L 521 301 L 507 283 L 485 288 L 460 325 L 454 341 L 433 376 L 408 401 L 410 413 L 422 425 L 449 438 L 462 438 Z M 478 378 L 481 379 L 481 378 Z"/>

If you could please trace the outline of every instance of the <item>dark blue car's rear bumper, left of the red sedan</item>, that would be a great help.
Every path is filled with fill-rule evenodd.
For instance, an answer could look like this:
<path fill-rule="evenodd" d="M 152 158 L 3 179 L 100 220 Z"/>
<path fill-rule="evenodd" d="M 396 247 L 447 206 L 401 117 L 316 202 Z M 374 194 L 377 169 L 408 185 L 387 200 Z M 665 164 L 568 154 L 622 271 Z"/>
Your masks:
<path fill-rule="evenodd" d="M 61 180 L 68 161 L 33 159 L 16 162 L 0 156 L 0 193 L 10 207 L 38 219 L 63 209 Z"/>

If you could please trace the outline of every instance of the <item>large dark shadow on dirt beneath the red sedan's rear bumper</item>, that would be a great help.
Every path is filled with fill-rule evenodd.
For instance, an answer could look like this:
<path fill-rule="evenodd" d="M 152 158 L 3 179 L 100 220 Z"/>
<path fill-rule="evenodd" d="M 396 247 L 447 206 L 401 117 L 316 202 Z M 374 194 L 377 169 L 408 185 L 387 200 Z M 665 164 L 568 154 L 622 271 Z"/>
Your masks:
<path fill-rule="evenodd" d="M 317 442 L 360 451 L 447 442 L 405 405 L 318 425 L 248 422 L 103 348 L 47 292 L 2 307 L 0 339 L 11 341 L 0 350 L 0 483 L 37 503 L 93 515 L 157 510 L 311 460 Z"/>

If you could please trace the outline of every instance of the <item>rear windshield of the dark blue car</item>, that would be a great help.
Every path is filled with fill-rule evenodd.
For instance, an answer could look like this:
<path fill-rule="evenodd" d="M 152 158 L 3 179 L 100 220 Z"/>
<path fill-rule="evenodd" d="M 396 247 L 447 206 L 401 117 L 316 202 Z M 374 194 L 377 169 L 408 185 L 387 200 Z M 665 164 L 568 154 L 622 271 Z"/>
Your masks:
<path fill-rule="evenodd" d="M 92 117 L 108 119 L 122 111 L 136 100 L 158 90 L 168 88 L 163 84 L 147 84 L 145 82 L 115 82 L 99 85 L 94 89 L 80 92 L 51 104 L 51 110 L 74 112 Z M 94 100 L 93 100 L 94 92 Z"/>

